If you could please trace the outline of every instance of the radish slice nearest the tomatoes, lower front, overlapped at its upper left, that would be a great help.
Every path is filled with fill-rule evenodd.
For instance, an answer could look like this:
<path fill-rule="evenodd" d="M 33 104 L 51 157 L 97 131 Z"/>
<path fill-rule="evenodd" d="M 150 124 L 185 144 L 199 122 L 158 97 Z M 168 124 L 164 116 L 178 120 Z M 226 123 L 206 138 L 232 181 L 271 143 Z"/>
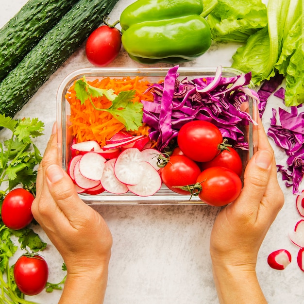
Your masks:
<path fill-rule="evenodd" d="M 129 190 L 138 196 L 150 196 L 155 194 L 162 186 L 162 180 L 156 169 L 148 162 L 142 162 L 144 175 L 136 185 L 127 185 Z"/>

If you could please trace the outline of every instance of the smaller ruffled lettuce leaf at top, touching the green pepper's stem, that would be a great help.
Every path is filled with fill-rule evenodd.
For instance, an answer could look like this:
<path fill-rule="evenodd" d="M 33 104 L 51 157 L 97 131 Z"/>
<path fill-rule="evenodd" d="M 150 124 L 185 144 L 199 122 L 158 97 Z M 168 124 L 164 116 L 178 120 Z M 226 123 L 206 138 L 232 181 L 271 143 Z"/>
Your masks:
<path fill-rule="evenodd" d="M 208 1 L 204 1 L 206 5 Z M 218 0 L 207 21 L 213 41 L 246 42 L 252 34 L 267 26 L 266 5 L 261 0 Z"/>

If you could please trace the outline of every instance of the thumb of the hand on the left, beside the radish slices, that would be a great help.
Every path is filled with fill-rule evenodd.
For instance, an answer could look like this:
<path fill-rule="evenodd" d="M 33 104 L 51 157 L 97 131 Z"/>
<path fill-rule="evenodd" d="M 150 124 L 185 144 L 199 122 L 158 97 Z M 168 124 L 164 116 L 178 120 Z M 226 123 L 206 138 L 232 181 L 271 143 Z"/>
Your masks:
<path fill-rule="evenodd" d="M 77 207 L 84 205 L 67 172 L 58 165 L 52 164 L 46 169 L 46 180 L 53 200 L 68 218 L 75 215 Z"/>

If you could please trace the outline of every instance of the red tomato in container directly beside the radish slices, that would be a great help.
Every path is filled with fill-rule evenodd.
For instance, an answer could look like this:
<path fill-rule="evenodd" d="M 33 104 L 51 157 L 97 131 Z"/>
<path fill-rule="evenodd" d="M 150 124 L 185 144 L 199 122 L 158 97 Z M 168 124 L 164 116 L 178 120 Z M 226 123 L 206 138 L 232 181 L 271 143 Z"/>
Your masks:
<path fill-rule="evenodd" d="M 189 194 L 186 190 L 174 186 L 186 186 L 196 183 L 201 173 L 199 166 L 185 155 L 173 155 L 167 165 L 160 169 L 163 183 L 172 191 L 179 194 Z"/>

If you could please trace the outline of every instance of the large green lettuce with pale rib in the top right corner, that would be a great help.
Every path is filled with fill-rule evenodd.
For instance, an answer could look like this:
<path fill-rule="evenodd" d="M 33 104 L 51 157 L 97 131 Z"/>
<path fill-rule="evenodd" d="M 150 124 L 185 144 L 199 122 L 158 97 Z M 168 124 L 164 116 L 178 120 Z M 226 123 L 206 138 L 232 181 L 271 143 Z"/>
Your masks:
<path fill-rule="evenodd" d="M 268 25 L 253 34 L 233 56 L 233 68 L 252 72 L 260 84 L 276 73 L 286 77 L 285 104 L 304 102 L 302 0 L 269 0 Z"/>

